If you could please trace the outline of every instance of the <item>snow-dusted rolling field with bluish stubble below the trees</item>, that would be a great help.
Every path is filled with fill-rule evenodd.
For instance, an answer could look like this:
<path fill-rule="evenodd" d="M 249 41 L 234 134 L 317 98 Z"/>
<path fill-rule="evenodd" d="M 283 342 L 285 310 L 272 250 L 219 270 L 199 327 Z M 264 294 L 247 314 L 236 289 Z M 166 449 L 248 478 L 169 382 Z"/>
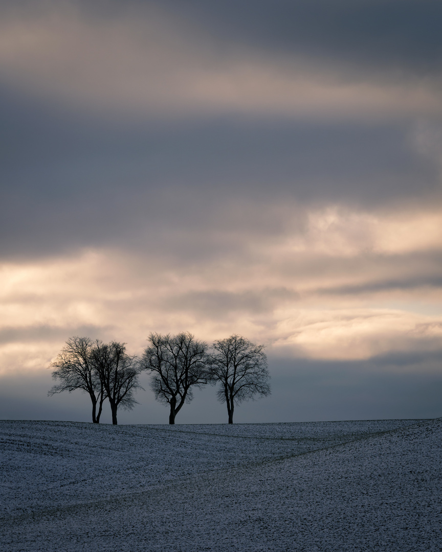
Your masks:
<path fill-rule="evenodd" d="M 442 421 L 0 421 L 5 551 L 442 550 Z"/>

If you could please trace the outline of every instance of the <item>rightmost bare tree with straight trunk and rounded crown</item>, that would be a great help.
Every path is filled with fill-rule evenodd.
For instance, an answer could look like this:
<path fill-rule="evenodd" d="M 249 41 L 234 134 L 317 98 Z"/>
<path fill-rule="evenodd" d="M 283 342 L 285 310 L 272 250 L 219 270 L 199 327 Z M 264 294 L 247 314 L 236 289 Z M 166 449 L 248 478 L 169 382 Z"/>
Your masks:
<path fill-rule="evenodd" d="M 215 341 L 212 348 L 212 381 L 220 382 L 218 400 L 227 405 L 229 423 L 233 423 L 235 405 L 255 399 L 255 395 L 270 395 L 264 345 L 255 345 L 244 337 L 233 335 Z"/>

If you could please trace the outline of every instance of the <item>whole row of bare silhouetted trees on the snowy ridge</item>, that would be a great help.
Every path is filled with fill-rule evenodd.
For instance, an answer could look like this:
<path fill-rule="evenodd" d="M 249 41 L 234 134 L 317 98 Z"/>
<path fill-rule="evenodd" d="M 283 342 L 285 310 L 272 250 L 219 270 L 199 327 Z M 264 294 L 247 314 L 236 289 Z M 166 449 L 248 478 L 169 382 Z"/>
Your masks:
<path fill-rule="evenodd" d="M 117 424 L 118 407 L 130 410 L 136 404 L 134 393 L 143 389 L 138 378 L 145 370 L 151 374 L 156 400 L 169 407 L 169 423 L 173 424 L 182 406 L 193 399 L 193 389 L 203 385 L 218 384 L 218 400 L 227 405 L 229 423 L 233 423 L 235 405 L 270 394 L 264 345 L 232 335 L 209 347 L 187 332 L 151 333 L 148 341 L 143 356 L 136 358 L 127 354 L 124 343 L 68 339 L 50 365 L 58 383 L 49 395 L 81 389 L 91 397 L 94 423 L 99 423 L 108 399 L 112 423 Z"/>

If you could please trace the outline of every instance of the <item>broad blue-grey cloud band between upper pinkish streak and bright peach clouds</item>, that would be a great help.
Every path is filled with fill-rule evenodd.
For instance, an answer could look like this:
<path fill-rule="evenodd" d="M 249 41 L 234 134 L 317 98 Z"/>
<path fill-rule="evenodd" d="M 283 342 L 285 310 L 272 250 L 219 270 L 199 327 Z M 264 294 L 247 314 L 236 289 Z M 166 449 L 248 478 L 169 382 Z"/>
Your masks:
<path fill-rule="evenodd" d="M 202 245 L 219 231 L 280 232 L 281 205 L 293 205 L 302 225 L 296 205 L 440 200 L 438 167 L 414 151 L 403 123 L 224 117 L 146 125 L 4 89 L 2 99 L 7 257 L 109 244 L 151 250 L 176 231 Z"/>

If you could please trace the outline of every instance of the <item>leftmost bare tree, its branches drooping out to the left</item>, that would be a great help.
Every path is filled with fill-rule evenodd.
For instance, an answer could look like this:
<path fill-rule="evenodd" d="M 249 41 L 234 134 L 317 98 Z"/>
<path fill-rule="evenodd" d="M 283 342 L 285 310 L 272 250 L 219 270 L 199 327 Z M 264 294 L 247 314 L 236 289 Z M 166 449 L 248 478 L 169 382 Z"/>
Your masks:
<path fill-rule="evenodd" d="M 59 380 L 59 383 L 48 391 L 48 395 L 81 389 L 91 397 L 93 423 L 99 423 L 106 391 L 94 369 L 91 352 L 92 341 L 90 338 L 70 337 L 57 358 L 49 366 L 49 368 L 54 368 L 52 378 Z"/>

